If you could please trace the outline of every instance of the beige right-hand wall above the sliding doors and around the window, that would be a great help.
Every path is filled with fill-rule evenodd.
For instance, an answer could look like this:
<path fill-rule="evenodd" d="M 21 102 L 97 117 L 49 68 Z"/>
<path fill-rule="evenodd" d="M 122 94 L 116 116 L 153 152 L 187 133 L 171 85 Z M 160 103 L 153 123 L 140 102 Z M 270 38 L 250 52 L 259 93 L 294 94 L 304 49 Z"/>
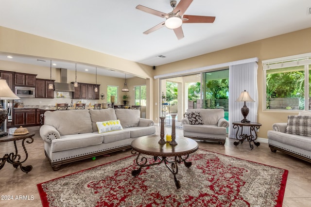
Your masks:
<path fill-rule="evenodd" d="M 287 122 L 287 115 L 296 115 L 298 112 L 286 111 L 286 112 L 268 112 L 262 110 L 263 103 L 263 71 L 262 60 L 285 57 L 290 55 L 302 54 L 311 52 L 311 28 L 291 32 L 256 42 L 236 46 L 233 48 L 227 48 L 224 50 L 208 53 L 205 55 L 189 58 L 183 61 L 178 61 L 171 64 L 160 65 L 156 67 L 155 75 L 162 75 L 172 73 L 176 71 L 184 71 L 192 68 L 200 68 L 209 65 L 228 63 L 232 61 L 238 61 L 248 58 L 259 58 L 258 67 L 258 90 L 259 90 L 259 110 L 258 110 L 258 122 L 262 124 L 259 129 L 258 136 L 261 138 L 267 137 L 267 131 L 272 129 L 273 123 Z M 155 83 L 158 85 L 158 81 Z M 155 100 L 159 101 L 158 86 Z M 159 111 L 155 110 L 154 116 L 156 117 Z"/>

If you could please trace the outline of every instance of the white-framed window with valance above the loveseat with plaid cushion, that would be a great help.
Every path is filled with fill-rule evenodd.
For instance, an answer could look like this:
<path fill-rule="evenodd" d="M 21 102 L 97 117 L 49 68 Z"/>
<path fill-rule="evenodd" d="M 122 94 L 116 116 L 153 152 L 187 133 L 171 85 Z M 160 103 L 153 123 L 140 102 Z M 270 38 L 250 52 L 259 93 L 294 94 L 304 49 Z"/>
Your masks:
<path fill-rule="evenodd" d="M 265 110 L 311 110 L 311 53 L 262 63 Z"/>

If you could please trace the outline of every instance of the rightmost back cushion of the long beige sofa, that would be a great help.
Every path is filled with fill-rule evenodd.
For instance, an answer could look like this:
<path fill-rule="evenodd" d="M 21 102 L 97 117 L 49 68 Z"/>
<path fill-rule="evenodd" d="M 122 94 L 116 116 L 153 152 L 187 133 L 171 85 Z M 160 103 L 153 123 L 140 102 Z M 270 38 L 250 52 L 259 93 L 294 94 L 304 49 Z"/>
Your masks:
<path fill-rule="evenodd" d="M 137 127 L 140 118 L 139 110 L 132 109 L 115 109 L 117 119 L 120 120 L 123 128 Z"/>

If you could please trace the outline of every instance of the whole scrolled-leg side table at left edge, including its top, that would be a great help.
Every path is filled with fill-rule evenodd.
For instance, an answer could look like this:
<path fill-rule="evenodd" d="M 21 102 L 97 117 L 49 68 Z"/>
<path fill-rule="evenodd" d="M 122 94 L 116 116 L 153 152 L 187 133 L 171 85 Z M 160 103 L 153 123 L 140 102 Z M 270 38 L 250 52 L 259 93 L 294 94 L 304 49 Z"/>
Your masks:
<path fill-rule="evenodd" d="M 27 166 L 22 166 L 22 163 L 25 162 L 28 158 L 28 153 L 25 147 L 25 141 L 26 143 L 33 143 L 34 142 L 34 138 L 33 136 L 35 136 L 34 132 L 29 132 L 28 134 L 25 135 L 17 135 L 17 136 L 13 136 L 13 135 L 7 135 L 4 137 L 0 137 L 0 143 L 5 143 L 5 142 L 14 142 L 14 146 L 15 146 L 15 153 L 11 152 L 10 154 L 5 154 L 3 156 L 3 158 L 0 158 L 0 170 L 3 168 L 5 162 L 7 161 L 8 163 L 11 163 L 13 165 L 13 167 L 17 168 L 18 166 L 20 167 L 20 170 L 28 173 L 33 169 L 32 165 L 27 165 Z M 26 155 L 26 158 L 24 160 L 20 160 L 21 156 L 18 154 L 17 152 L 17 145 L 16 145 L 16 141 L 18 140 L 22 140 L 22 146 Z"/>

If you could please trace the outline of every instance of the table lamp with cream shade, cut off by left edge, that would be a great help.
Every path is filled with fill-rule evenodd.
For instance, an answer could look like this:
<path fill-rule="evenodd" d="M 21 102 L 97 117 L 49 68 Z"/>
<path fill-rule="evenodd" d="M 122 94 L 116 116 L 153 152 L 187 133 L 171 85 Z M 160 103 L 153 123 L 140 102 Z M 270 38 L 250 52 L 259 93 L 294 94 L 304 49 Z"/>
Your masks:
<path fill-rule="evenodd" d="M 4 79 L 0 79 L 0 99 L 1 100 L 19 99 L 19 97 L 13 93 L 9 85 L 6 83 L 6 80 Z M 3 109 L 3 106 L 0 103 L 0 127 L 5 122 L 7 117 L 8 111 L 6 109 Z M 6 136 L 7 134 L 8 134 L 7 132 L 0 129 L 0 137 Z"/>

